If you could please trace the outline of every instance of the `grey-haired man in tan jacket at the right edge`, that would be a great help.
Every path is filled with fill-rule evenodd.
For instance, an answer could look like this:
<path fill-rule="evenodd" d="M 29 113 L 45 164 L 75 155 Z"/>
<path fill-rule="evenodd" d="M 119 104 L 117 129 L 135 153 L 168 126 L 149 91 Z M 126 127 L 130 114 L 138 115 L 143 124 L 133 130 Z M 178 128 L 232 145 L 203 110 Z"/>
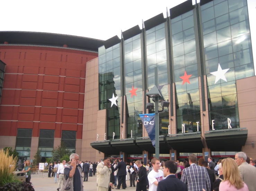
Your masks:
<path fill-rule="evenodd" d="M 238 165 L 238 169 L 242 180 L 246 183 L 249 191 L 256 190 L 256 168 L 246 162 L 246 154 L 244 152 L 238 152 L 235 155 L 235 160 Z"/>

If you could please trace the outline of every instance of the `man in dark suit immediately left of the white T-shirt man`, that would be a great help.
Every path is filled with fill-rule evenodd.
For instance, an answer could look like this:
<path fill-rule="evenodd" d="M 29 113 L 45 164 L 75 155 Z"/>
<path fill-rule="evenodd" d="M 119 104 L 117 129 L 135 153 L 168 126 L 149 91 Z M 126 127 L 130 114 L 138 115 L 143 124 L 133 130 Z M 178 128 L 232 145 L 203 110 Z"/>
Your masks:
<path fill-rule="evenodd" d="M 139 167 L 138 179 L 137 179 L 137 187 L 136 191 L 147 191 L 148 185 L 148 177 L 147 177 L 147 169 L 143 167 L 141 161 L 136 161 L 135 164 Z"/>

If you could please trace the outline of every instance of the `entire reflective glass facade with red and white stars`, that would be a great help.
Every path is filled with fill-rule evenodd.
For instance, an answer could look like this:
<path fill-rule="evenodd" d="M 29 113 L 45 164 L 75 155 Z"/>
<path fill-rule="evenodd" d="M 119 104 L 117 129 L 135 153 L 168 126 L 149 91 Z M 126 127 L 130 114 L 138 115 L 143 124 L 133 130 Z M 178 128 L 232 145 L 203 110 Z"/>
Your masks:
<path fill-rule="evenodd" d="M 146 105 L 143 99 L 148 99 L 143 91 L 154 86 L 155 67 L 165 101 L 169 94 L 175 99 L 175 117 L 159 103 L 159 135 L 168 134 L 170 117 L 176 118 L 177 133 L 183 133 L 183 126 L 184 133 L 201 131 L 205 104 L 209 130 L 240 127 L 236 80 L 254 76 L 247 1 L 197 3 L 193 10 L 163 19 L 147 30 L 143 24 L 139 34 L 108 49 L 99 48 L 99 109 L 107 110 L 108 140 L 113 132 L 115 139 L 120 138 L 122 117 L 126 118 L 125 138 L 142 137 L 139 114 Z M 170 82 L 174 92 L 169 92 Z M 200 88 L 204 85 L 207 92 Z M 120 116 L 124 95 L 126 116 Z M 204 95 L 206 103 L 200 99 Z M 116 104 L 109 101 L 113 98 Z M 149 101 L 153 103 L 152 98 Z"/>

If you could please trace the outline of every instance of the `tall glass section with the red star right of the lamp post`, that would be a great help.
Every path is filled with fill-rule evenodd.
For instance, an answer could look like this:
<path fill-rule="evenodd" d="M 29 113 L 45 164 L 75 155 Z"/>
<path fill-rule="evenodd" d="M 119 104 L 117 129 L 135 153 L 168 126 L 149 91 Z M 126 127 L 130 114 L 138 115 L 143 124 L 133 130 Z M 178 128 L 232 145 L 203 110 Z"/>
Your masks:
<path fill-rule="evenodd" d="M 171 20 L 177 133 L 201 131 L 193 10 Z"/>

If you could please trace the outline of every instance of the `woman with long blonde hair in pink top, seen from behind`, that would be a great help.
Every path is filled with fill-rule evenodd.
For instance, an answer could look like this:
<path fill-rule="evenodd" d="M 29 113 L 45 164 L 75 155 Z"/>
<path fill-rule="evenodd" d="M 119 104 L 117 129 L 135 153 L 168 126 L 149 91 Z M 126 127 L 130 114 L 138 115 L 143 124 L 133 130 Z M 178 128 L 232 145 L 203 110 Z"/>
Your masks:
<path fill-rule="evenodd" d="M 242 181 L 237 163 L 234 159 L 222 160 L 222 171 L 224 180 L 220 183 L 220 191 L 249 191 L 247 185 Z"/>

